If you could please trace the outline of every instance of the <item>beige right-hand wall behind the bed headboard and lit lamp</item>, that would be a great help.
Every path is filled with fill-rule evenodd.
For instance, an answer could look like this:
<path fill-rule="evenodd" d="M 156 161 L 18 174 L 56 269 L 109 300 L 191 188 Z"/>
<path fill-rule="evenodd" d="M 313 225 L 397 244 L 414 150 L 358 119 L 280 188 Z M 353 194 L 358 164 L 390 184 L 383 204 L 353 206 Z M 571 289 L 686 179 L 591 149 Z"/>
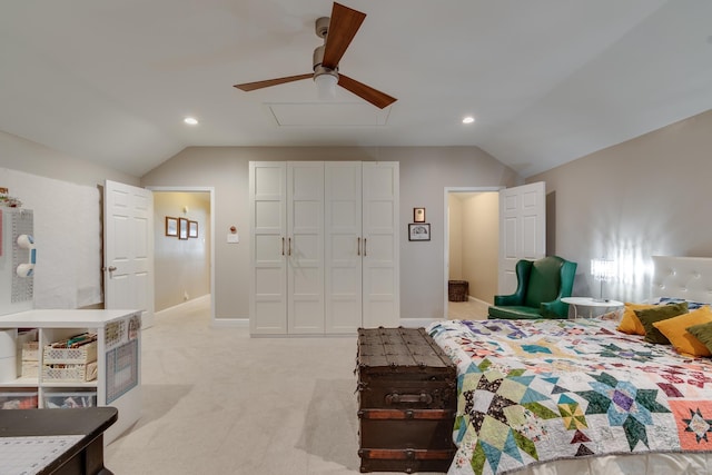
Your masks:
<path fill-rule="evenodd" d="M 605 296 L 649 296 L 650 256 L 712 257 L 712 111 L 547 172 L 548 254 L 578 263 L 574 295 L 596 295 L 590 260 L 610 257 L 623 278 Z"/>

